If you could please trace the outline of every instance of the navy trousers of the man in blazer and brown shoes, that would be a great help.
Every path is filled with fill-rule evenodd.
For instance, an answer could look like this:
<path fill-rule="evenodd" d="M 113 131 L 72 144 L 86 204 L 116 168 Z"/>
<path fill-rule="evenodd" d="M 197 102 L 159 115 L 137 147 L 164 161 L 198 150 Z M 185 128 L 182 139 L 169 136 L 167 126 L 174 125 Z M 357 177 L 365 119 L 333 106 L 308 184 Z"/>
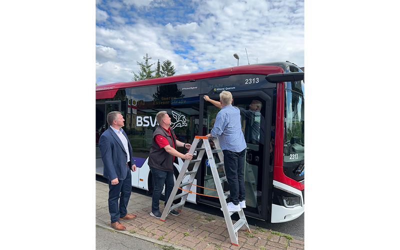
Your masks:
<path fill-rule="evenodd" d="M 128 166 L 126 166 L 126 171 L 126 178 L 123 180 L 118 179 L 118 184 L 111 185 L 111 180 L 108 180 L 108 211 L 111 216 L 111 223 L 119 221 L 119 218 L 127 213 L 126 206 L 132 190 L 132 175 Z"/>

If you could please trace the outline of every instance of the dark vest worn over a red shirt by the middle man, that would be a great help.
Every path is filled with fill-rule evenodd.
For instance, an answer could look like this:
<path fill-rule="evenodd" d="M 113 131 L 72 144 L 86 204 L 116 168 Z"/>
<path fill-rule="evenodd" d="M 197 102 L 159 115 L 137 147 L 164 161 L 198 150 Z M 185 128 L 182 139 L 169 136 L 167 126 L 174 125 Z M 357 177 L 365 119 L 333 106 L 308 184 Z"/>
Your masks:
<path fill-rule="evenodd" d="M 165 129 L 158 126 L 153 132 L 153 140 L 151 142 L 150 153 L 148 154 L 148 166 L 162 171 L 173 172 L 173 155 L 167 153 L 164 148 L 159 147 L 159 145 L 154 141 L 155 135 L 157 134 L 164 136 L 171 147 L 173 140 L 173 148 L 176 149 L 175 132 L 173 129 L 171 128 L 171 137 Z M 177 158 L 175 157 L 175 159 Z"/>

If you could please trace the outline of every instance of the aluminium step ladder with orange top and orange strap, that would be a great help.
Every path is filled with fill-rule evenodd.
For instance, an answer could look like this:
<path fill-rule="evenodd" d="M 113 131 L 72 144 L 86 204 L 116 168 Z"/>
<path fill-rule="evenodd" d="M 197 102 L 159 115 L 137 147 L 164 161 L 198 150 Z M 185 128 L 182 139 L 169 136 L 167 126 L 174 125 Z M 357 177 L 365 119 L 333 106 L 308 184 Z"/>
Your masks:
<path fill-rule="evenodd" d="M 213 177 L 213 180 L 214 180 L 214 183 L 216 186 L 216 191 L 218 193 L 219 202 L 221 203 L 222 212 L 223 212 L 223 216 L 225 218 L 226 227 L 229 232 L 230 241 L 233 245 L 238 246 L 237 231 L 243 225 L 245 225 L 247 227 L 249 232 L 250 232 L 250 228 L 248 227 L 248 223 L 247 223 L 246 217 L 244 216 L 244 212 L 243 212 L 242 208 L 240 208 L 240 211 L 237 212 L 239 214 L 239 220 L 237 220 L 233 224 L 232 219 L 230 218 L 230 215 L 232 215 L 235 212 L 228 211 L 228 208 L 226 205 L 226 198 L 229 197 L 229 191 L 224 193 L 223 189 L 222 189 L 222 185 L 221 185 L 221 183 L 223 183 L 224 181 L 227 181 L 227 179 L 226 179 L 226 176 L 223 176 L 220 178 L 218 171 L 217 171 L 218 167 L 222 167 L 223 172 L 225 172 L 225 169 L 223 168 L 223 153 L 219 146 L 219 141 L 216 137 L 210 137 L 210 139 L 212 139 L 212 141 L 215 145 L 215 149 L 213 149 L 213 150 L 211 149 L 208 139 L 209 138 L 206 136 L 196 135 L 194 137 L 194 140 L 191 144 L 189 153 L 193 154 L 194 151 L 197 151 L 197 158 L 184 161 L 182 169 L 180 170 L 180 173 L 179 173 L 178 177 L 176 178 L 176 181 L 175 181 L 175 184 L 171 191 L 171 194 L 169 195 L 169 197 L 173 197 L 173 198 L 168 198 L 168 201 L 165 204 L 165 207 L 162 212 L 160 220 L 165 221 L 166 215 L 170 211 L 172 211 L 173 209 L 175 209 L 177 207 L 181 207 L 181 206 L 183 207 L 184 203 L 186 202 L 187 195 L 191 192 L 191 191 L 188 191 L 188 190 L 190 190 L 189 185 L 193 182 L 193 180 L 195 178 L 195 175 L 197 173 L 198 167 L 201 163 L 201 159 L 202 159 L 202 157 L 204 155 L 204 151 L 205 151 L 206 155 L 207 155 L 209 166 L 211 168 L 212 177 Z M 202 143 L 200 143 L 202 145 L 197 147 L 197 144 L 199 144 L 199 142 L 202 142 Z M 213 153 L 217 153 L 219 160 L 221 162 L 215 163 Z M 191 171 L 186 172 L 189 164 L 191 164 L 191 163 L 194 163 L 193 169 Z M 183 178 L 187 175 L 189 175 L 188 181 L 185 181 L 182 183 Z M 186 188 L 186 186 L 189 186 L 189 188 Z M 176 195 L 177 190 L 179 188 L 182 189 L 182 192 L 180 194 Z M 173 200 L 175 200 L 177 198 L 181 198 L 180 202 L 172 205 Z"/>

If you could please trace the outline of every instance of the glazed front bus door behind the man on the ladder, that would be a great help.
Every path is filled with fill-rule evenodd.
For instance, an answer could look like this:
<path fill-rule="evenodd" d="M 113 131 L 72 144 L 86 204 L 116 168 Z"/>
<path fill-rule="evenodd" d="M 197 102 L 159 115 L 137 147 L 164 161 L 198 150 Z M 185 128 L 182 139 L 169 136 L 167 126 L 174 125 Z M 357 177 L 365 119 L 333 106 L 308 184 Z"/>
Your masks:
<path fill-rule="evenodd" d="M 233 106 L 240 109 L 241 129 L 246 141 L 246 153 L 244 160 L 244 183 L 246 190 L 246 208 L 244 212 L 251 217 L 266 219 L 268 182 L 272 177 L 272 166 L 269 165 L 269 140 L 271 131 L 272 92 L 240 91 L 231 92 Z M 211 99 L 219 100 L 219 93 L 208 94 Z M 202 96 L 200 96 L 202 98 Z M 201 101 L 200 101 L 201 103 Z M 210 133 L 215 117 L 220 110 L 210 102 L 202 103 L 205 134 Z M 204 135 L 205 135 L 204 134 Z M 219 162 L 215 159 L 215 163 Z M 201 174 L 198 176 L 200 185 L 210 189 L 199 189 L 198 202 L 219 206 L 215 185 L 212 179 L 210 167 L 206 160 L 202 162 Z M 220 173 L 220 177 L 223 172 Z M 227 182 L 224 182 L 223 190 L 229 190 Z"/>

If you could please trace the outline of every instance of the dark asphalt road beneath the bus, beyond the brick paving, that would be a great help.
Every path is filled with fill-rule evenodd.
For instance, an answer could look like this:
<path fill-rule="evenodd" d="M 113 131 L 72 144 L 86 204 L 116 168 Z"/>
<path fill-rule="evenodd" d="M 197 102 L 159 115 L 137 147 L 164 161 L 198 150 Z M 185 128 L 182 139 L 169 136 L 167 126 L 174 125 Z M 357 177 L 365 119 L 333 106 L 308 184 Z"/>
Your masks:
<path fill-rule="evenodd" d="M 103 178 L 102 176 L 96 175 L 96 180 L 102 181 L 104 183 L 107 183 L 106 179 Z M 146 190 L 139 189 L 136 187 L 132 187 L 132 192 L 137 192 L 143 195 L 151 196 L 150 194 L 146 193 Z M 149 204 L 150 205 L 150 204 Z M 193 204 L 190 202 L 186 202 L 184 206 L 187 206 L 189 208 L 193 208 L 199 211 L 207 212 L 212 215 L 220 216 L 223 217 L 222 212 L 219 210 L 217 207 L 205 205 L 205 204 Z M 234 216 L 234 215 L 232 215 Z M 234 217 L 232 217 L 234 219 Z M 271 229 L 272 231 L 277 231 L 281 233 L 286 233 L 292 236 L 298 236 L 304 238 L 304 213 L 299 216 L 296 219 L 293 219 L 288 222 L 283 222 L 283 223 L 268 223 L 259 219 L 251 218 L 251 217 L 246 217 L 247 222 L 251 225 L 254 226 L 259 226 L 265 229 Z"/>

